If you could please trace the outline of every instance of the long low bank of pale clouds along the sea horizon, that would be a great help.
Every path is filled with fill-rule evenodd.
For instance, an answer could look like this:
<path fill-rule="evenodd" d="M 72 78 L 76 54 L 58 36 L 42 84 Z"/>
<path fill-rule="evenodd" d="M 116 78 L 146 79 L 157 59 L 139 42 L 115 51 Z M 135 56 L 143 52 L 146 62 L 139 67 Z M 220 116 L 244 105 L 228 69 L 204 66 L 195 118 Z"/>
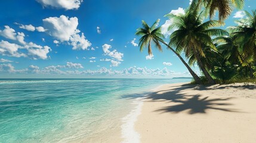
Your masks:
<path fill-rule="evenodd" d="M 72 63 L 70 65 L 74 65 Z M 117 66 L 118 63 L 113 63 Z M 116 77 L 191 77 L 190 74 L 185 72 L 175 72 L 168 70 L 166 67 L 163 69 L 149 69 L 147 67 L 129 67 L 122 70 L 112 70 L 106 67 L 101 67 L 98 70 L 79 70 L 82 68 L 81 65 L 68 66 L 67 63 L 64 66 L 47 66 L 39 68 L 38 66 L 31 65 L 28 69 L 15 70 L 11 64 L 0 64 L 1 72 L 27 72 L 27 73 L 38 73 L 38 74 L 79 74 L 84 76 L 116 76 Z M 97 66 L 98 67 L 98 66 Z M 68 70 L 66 70 L 68 69 Z M 70 69 L 70 70 L 69 70 Z M 72 70 L 73 69 L 73 70 Z"/>

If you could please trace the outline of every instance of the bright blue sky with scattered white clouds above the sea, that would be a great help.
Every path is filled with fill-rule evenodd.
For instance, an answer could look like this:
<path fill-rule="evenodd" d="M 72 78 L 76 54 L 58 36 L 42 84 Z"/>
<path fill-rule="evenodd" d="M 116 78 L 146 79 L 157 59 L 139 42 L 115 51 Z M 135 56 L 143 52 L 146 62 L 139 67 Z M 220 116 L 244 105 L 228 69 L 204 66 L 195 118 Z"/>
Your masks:
<path fill-rule="evenodd" d="M 4 0 L 0 5 L 0 78 L 172 78 L 191 77 L 180 59 L 163 52 L 140 52 L 136 29 L 141 20 L 184 13 L 190 0 Z M 255 10 L 245 0 L 244 10 Z M 225 21 L 245 16 L 233 10 Z M 183 55 L 184 57 L 184 55 Z M 186 59 L 186 58 L 185 58 Z M 192 67 L 200 75 L 198 66 Z"/>

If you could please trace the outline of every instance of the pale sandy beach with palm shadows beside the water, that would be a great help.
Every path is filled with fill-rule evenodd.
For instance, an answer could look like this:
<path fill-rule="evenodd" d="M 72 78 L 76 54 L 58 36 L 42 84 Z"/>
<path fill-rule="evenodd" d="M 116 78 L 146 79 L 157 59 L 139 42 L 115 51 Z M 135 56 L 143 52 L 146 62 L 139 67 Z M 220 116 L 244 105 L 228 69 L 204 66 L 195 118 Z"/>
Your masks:
<path fill-rule="evenodd" d="M 256 142 L 256 86 L 160 86 L 135 122 L 143 143 Z"/>

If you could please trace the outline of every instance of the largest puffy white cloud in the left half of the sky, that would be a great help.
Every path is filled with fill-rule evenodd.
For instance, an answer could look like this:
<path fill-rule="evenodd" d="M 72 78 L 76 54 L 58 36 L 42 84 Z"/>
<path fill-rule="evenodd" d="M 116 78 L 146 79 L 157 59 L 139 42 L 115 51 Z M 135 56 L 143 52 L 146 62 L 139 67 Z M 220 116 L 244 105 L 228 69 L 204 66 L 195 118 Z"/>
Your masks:
<path fill-rule="evenodd" d="M 47 29 L 47 33 L 60 42 L 67 41 L 69 45 L 72 45 L 74 50 L 85 50 L 91 46 L 90 41 L 85 39 L 84 33 L 79 35 L 80 30 L 78 27 L 77 17 L 66 17 L 61 15 L 60 17 L 48 17 L 43 20 L 44 27 Z"/>

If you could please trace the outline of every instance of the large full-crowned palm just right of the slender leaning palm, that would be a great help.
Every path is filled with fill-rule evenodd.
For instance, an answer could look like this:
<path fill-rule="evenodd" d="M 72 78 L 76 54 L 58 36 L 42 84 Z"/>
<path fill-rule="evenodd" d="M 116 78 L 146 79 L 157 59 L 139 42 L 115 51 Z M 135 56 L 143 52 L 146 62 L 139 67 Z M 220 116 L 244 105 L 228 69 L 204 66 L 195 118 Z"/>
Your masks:
<path fill-rule="evenodd" d="M 186 57 L 189 57 L 193 52 L 198 66 L 208 79 L 208 83 L 214 84 L 214 79 L 212 79 L 201 61 L 201 56 L 205 57 L 202 48 L 209 46 L 212 49 L 216 49 L 212 43 L 211 36 L 222 36 L 226 35 L 227 32 L 222 29 L 210 29 L 218 26 L 219 23 L 216 20 L 209 20 L 203 23 L 202 13 L 197 14 L 186 11 L 185 14 L 167 14 L 166 16 L 173 20 L 169 29 L 177 29 L 171 34 L 169 45 L 177 47 L 176 51 L 178 53 L 184 51 Z"/>

